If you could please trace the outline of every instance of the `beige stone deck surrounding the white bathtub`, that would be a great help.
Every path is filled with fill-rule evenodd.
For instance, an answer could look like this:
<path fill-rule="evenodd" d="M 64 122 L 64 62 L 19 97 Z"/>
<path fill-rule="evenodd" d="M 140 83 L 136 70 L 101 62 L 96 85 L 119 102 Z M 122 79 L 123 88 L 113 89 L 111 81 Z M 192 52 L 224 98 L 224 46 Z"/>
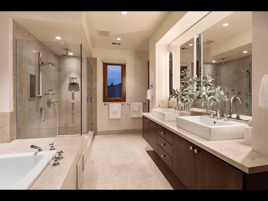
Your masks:
<path fill-rule="evenodd" d="M 49 151 L 50 145 L 54 143 L 56 151 L 63 151 L 63 159 L 58 160 L 59 166 L 53 167 L 52 160 L 43 173 L 38 177 L 30 189 L 60 189 L 64 179 L 71 167 L 71 164 L 85 140 L 86 135 L 58 136 L 53 138 L 18 139 L 11 143 L 0 144 L 0 154 L 13 154 L 35 152 L 30 146 L 36 145 L 43 151 Z"/>

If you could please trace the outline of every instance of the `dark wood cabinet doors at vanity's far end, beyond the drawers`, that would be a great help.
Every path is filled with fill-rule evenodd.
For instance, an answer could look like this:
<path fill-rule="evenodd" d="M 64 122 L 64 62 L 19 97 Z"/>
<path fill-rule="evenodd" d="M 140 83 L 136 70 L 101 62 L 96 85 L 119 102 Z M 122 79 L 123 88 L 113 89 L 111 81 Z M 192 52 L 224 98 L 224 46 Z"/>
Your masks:
<path fill-rule="evenodd" d="M 152 120 L 142 117 L 142 137 L 156 152 L 157 149 L 157 124 Z"/>

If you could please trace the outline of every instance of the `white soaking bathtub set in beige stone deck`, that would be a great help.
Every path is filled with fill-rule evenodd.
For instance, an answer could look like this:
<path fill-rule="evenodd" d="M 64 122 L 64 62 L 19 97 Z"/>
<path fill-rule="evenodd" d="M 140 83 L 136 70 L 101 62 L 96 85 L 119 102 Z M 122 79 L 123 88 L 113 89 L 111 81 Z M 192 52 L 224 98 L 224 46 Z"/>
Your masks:
<path fill-rule="evenodd" d="M 0 189 L 29 189 L 56 150 L 0 155 Z"/>

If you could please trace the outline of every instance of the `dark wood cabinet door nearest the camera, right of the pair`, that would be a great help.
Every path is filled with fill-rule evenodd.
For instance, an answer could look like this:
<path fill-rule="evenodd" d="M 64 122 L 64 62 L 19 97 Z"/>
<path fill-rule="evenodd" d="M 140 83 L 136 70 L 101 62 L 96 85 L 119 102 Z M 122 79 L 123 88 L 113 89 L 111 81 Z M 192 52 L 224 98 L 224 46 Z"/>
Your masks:
<path fill-rule="evenodd" d="M 243 188 L 242 171 L 201 148 L 196 152 L 196 189 Z"/>

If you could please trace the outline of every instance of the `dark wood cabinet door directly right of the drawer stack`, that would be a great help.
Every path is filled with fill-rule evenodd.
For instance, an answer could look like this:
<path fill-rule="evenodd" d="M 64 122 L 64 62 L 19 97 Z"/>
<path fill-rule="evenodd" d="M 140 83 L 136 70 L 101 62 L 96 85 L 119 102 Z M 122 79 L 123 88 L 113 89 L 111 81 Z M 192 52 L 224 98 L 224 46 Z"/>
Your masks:
<path fill-rule="evenodd" d="M 194 145 L 180 136 L 172 135 L 172 170 L 188 189 L 195 189 L 196 161 Z"/>

